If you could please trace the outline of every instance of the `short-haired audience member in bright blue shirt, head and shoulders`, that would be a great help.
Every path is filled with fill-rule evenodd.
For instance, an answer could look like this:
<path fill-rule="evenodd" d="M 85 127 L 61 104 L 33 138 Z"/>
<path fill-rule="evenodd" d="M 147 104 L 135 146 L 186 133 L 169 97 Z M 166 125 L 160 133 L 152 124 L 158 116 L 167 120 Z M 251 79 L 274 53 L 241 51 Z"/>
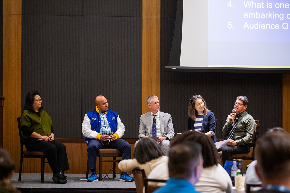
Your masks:
<path fill-rule="evenodd" d="M 201 146 L 195 142 L 185 142 L 171 147 L 168 159 L 169 179 L 166 185 L 155 190 L 154 193 L 191 192 L 198 181 L 202 170 Z"/>

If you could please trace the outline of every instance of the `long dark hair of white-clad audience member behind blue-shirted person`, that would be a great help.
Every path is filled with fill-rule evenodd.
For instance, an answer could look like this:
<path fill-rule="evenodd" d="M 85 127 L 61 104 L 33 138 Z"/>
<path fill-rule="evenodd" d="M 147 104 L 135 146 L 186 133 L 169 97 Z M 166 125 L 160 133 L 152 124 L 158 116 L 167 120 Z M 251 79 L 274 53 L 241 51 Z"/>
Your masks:
<path fill-rule="evenodd" d="M 187 130 L 180 135 L 175 136 L 171 141 L 171 146 L 180 144 L 186 141 L 194 141 L 202 146 L 202 157 L 203 157 L 203 167 L 207 168 L 216 165 L 220 161 L 220 156 L 218 155 L 217 148 L 213 140 L 196 131 Z"/>

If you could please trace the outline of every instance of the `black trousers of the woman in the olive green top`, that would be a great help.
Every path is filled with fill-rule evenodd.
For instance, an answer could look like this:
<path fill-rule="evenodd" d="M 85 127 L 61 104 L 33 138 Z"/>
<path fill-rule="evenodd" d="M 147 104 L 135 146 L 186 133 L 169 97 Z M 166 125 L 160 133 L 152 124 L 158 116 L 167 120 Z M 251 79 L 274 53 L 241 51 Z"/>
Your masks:
<path fill-rule="evenodd" d="M 52 172 L 59 170 L 68 170 L 68 156 L 66 155 L 66 146 L 57 140 L 37 141 L 32 139 L 25 142 L 25 147 L 29 151 L 43 151 L 46 154 L 48 164 Z"/>

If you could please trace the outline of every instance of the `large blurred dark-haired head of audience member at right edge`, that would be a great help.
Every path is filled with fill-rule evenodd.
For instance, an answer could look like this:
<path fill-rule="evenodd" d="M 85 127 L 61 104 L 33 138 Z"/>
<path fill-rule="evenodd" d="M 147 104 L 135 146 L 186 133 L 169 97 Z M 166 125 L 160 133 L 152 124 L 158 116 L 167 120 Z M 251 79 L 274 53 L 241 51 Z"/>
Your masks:
<path fill-rule="evenodd" d="M 283 132 L 266 133 L 259 139 L 256 172 L 264 185 L 290 188 L 290 136 Z"/>

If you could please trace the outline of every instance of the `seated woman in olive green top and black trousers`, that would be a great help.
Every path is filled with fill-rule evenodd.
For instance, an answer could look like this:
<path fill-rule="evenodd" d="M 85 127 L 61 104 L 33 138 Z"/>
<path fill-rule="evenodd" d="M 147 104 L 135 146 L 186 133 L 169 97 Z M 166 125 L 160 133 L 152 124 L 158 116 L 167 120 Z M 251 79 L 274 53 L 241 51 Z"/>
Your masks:
<path fill-rule="evenodd" d="M 38 91 L 26 95 L 21 113 L 21 133 L 29 151 L 43 151 L 53 172 L 52 180 L 65 184 L 64 171 L 69 169 L 66 146 L 55 140 L 50 116 L 42 110 Z"/>

